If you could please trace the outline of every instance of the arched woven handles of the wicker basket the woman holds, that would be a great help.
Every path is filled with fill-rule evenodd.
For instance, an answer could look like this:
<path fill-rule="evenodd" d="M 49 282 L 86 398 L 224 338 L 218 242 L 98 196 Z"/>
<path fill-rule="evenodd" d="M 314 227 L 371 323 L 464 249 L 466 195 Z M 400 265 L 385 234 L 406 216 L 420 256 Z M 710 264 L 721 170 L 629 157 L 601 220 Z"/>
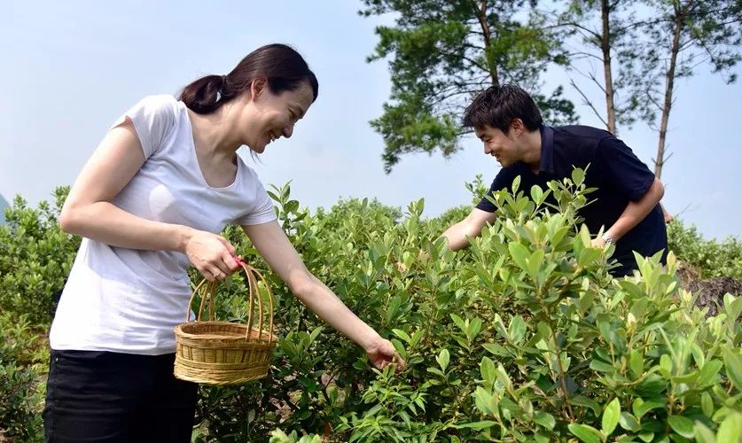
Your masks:
<path fill-rule="evenodd" d="M 257 320 L 258 324 L 255 326 L 258 331 L 258 341 L 262 340 L 262 328 L 263 323 L 265 321 L 265 316 L 268 317 L 268 323 L 269 323 L 269 334 L 268 334 L 268 343 L 273 342 L 273 294 L 270 292 L 270 285 L 268 284 L 268 281 L 266 281 L 265 277 L 262 276 L 262 274 L 249 264 L 242 258 L 233 255 L 234 259 L 237 260 L 238 264 L 242 269 L 245 271 L 245 275 L 247 278 L 247 288 L 249 290 L 248 292 L 248 311 L 247 311 L 247 332 L 245 335 L 245 338 L 249 338 L 250 334 L 253 330 L 253 319 L 254 319 L 254 312 L 257 309 Z M 260 289 L 258 286 L 258 279 L 262 281 L 263 286 L 265 287 L 265 290 L 268 291 L 268 312 L 265 313 L 267 315 L 263 315 L 263 306 L 262 306 L 262 297 L 260 295 Z M 206 307 L 207 299 L 208 299 L 208 320 L 214 321 L 214 295 L 216 290 L 216 285 L 218 284 L 217 281 L 209 282 L 206 278 L 203 278 L 199 284 L 196 286 L 196 289 L 193 290 L 193 293 L 191 294 L 191 299 L 188 301 L 188 307 L 186 308 L 185 313 L 185 322 L 188 323 L 191 318 L 191 304 L 193 303 L 193 299 L 195 299 L 197 294 L 201 295 L 201 303 L 199 304 L 199 312 L 196 315 L 196 321 L 201 321 L 201 315 L 203 315 L 204 307 Z M 255 303 L 255 300 L 257 300 L 257 306 Z"/>

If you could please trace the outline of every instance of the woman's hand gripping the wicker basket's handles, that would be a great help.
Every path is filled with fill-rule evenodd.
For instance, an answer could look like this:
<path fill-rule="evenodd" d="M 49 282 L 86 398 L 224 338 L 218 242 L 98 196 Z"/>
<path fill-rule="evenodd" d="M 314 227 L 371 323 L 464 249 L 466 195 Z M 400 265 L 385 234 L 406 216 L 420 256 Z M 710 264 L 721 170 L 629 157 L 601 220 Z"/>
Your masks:
<path fill-rule="evenodd" d="M 191 233 L 184 253 L 209 282 L 223 280 L 239 268 L 234 246 L 226 238 L 204 230 Z"/>

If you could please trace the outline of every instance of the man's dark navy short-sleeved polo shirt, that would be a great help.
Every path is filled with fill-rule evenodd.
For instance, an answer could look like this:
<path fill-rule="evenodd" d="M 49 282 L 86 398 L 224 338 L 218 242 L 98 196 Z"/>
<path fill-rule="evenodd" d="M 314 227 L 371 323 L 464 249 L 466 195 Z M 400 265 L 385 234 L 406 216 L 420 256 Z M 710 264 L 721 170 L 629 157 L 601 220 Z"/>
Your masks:
<path fill-rule="evenodd" d="M 598 188 L 588 194 L 588 199 L 596 199 L 582 208 L 580 215 L 590 233 L 596 234 L 613 226 L 631 201 L 644 197 L 654 183 L 654 174 L 631 152 L 629 146 L 610 132 L 587 126 L 545 127 L 541 131 L 541 167 L 536 175 L 526 163 L 518 162 L 504 167 L 495 177 L 490 191 L 510 188 L 513 179 L 520 175 L 520 188 L 528 190 L 537 184 L 546 190 L 546 183 L 570 177 L 574 167 L 587 169 L 585 185 Z M 590 167 L 588 167 L 590 165 Z M 496 207 L 483 198 L 476 206 L 482 211 L 494 213 Z M 668 235 L 662 208 L 658 204 L 616 242 L 613 259 L 621 268 L 612 270 L 615 276 L 626 275 L 637 268 L 632 251 L 650 256 L 660 250 L 668 249 Z"/>

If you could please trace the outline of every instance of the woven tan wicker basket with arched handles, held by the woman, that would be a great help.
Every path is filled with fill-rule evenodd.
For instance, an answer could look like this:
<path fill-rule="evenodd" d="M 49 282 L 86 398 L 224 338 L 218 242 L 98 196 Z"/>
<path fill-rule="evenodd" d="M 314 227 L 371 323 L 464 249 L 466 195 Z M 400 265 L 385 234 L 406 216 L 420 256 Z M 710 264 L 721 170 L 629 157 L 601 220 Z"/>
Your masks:
<path fill-rule="evenodd" d="M 238 259 L 249 288 L 247 323 L 214 319 L 216 282 L 202 280 L 191 295 L 185 323 L 176 326 L 177 378 L 206 385 L 236 385 L 268 375 L 270 354 L 276 345 L 273 334 L 273 296 L 268 282 L 255 268 Z M 268 291 L 268 309 L 263 307 L 258 279 Z M 191 303 L 200 295 L 199 313 L 189 322 Z M 208 303 L 208 320 L 201 320 Z M 267 311 L 267 312 L 266 312 Z M 268 326 L 268 330 L 264 327 Z"/>

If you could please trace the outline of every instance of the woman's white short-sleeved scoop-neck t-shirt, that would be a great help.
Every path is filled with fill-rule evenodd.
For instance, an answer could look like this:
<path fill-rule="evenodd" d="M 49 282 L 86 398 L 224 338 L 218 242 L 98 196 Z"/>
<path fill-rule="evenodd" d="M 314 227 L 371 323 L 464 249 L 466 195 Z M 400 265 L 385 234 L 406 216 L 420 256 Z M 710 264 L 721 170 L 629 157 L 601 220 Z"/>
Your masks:
<path fill-rule="evenodd" d="M 232 223 L 276 220 L 268 193 L 239 156 L 234 183 L 224 188 L 206 183 L 183 102 L 165 95 L 146 97 L 116 125 L 126 117 L 137 130 L 145 160 L 113 205 L 144 219 L 215 234 Z M 127 249 L 83 238 L 51 324 L 51 348 L 175 352 L 173 330 L 190 312 L 189 266 L 184 253 Z"/>

